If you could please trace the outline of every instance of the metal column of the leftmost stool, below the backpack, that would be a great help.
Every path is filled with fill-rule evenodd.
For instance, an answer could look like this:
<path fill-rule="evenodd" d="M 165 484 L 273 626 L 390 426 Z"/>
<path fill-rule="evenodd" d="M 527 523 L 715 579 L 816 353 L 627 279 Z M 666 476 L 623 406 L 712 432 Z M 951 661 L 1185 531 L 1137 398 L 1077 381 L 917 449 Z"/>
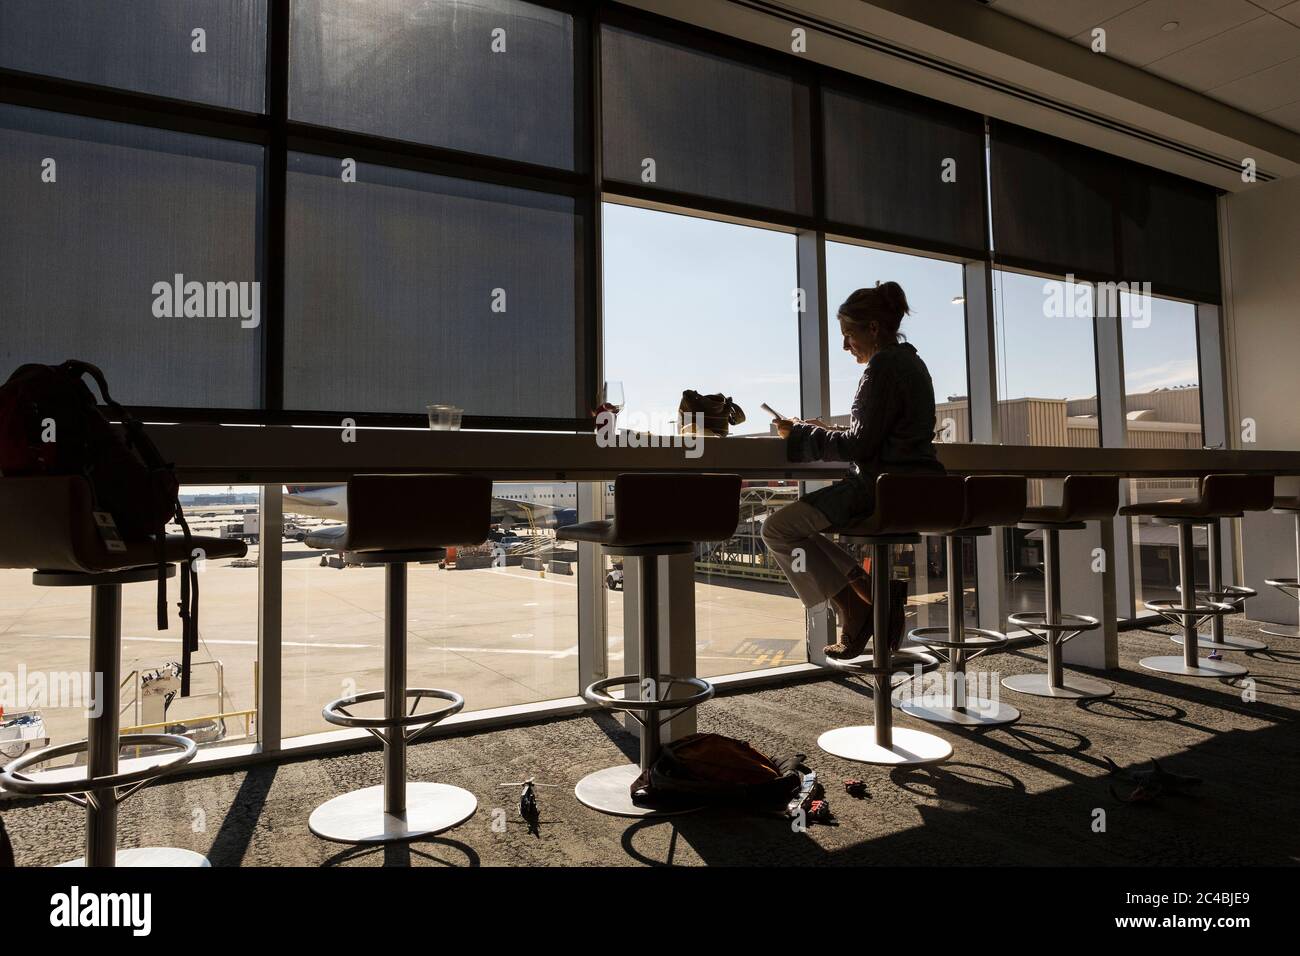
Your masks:
<path fill-rule="evenodd" d="M 91 588 L 90 671 L 103 679 L 99 717 L 88 721 L 86 771 L 91 778 L 117 773 L 118 695 L 122 683 L 122 585 Z M 117 865 L 117 795 L 113 788 L 87 795 L 86 865 Z"/>

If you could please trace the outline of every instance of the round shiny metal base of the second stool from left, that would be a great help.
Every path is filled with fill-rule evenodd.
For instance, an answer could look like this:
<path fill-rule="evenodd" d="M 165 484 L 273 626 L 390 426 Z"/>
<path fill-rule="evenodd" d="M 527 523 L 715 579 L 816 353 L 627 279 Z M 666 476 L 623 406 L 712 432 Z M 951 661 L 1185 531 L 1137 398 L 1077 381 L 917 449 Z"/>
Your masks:
<path fill-rule="evenodd" d="M 473 816 L 478 799 L 468 790 L 446 783 L 408 783 L 406 813 L 384 812 L 384 787 L 367 787 L 329 800 L 315 810 L 307 826 L 335 843 L 395 843 L 450 830 Z"/>

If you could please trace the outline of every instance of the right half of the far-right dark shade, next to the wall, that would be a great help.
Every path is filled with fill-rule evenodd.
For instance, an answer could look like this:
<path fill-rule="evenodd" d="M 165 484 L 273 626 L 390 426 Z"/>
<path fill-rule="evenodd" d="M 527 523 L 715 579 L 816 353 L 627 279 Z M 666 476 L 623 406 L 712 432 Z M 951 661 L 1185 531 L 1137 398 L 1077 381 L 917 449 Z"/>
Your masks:
<path fill-rule="evenodd" d="M 1124 163 L 1119 189 L 1121 276 L 1154 291 L 1218 302 L 1218 202 L 1209 186 Z"/>

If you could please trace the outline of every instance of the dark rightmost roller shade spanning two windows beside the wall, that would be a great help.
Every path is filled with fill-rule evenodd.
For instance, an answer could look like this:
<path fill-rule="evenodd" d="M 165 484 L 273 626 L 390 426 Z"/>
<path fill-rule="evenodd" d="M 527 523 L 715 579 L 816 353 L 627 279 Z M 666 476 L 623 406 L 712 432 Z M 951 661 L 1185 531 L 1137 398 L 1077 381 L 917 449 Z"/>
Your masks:
<path fill-rule="evenodd" d="M 1011 124 L 991 140 L 997 261 L 1219 300 L 1217 190 Z"/>

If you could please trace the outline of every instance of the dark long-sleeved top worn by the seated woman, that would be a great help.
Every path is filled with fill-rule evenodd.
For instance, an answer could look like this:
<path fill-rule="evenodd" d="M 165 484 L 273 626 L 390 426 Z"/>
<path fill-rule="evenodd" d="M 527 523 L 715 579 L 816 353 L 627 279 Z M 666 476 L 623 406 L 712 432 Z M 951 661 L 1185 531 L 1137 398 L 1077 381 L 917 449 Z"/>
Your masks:
<path fill-rule="evenodd" d="M 942 471 L 935 453 L 935 385 L 909 342 L 881 349 L 862 372 L 849 428 L 790 427 L 792 462 L 853 462 L 874 483 L 887 471 Z"/>

